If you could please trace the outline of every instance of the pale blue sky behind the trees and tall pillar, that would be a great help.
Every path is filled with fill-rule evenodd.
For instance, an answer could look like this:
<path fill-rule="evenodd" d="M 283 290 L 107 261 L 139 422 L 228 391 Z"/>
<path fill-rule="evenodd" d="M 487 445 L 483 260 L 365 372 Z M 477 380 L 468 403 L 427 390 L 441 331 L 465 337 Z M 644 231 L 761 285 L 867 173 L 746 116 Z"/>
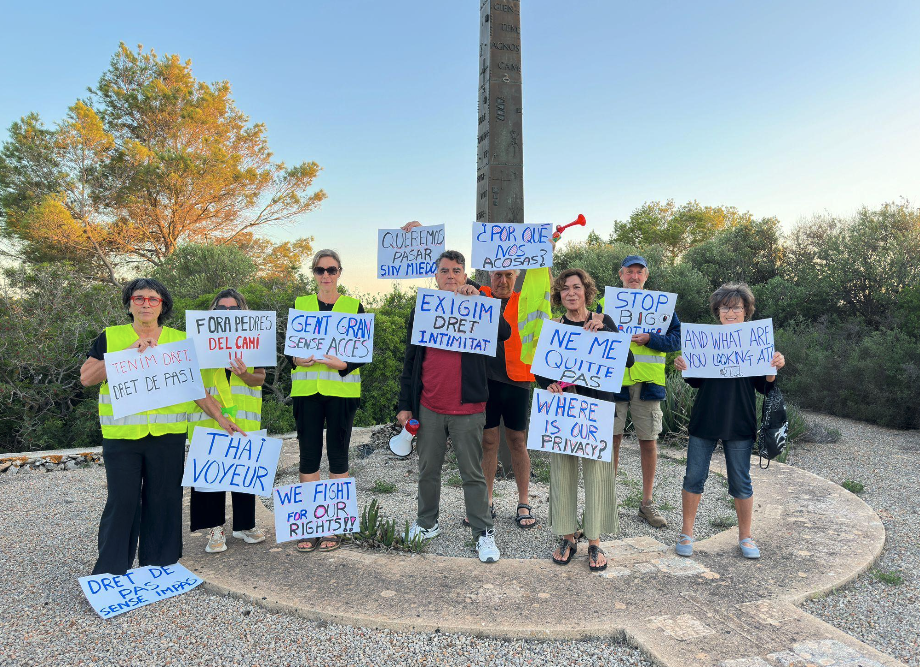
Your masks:
<path fill-rule="evenodd" d="M 920 202 L 920 2 L 522 3 L 525 217 L 606 236 L 648 200 L 777 216 Z M 17 3 L 0 29 L 0 125 L 59 120 L 118 42 L 227 79 L 276 156 L 315 160 L 313 235 L 344 282 L 378 227 L 475 217 L 479 0 Z M 407 281 L 418 284 L 419 281 Z"/>

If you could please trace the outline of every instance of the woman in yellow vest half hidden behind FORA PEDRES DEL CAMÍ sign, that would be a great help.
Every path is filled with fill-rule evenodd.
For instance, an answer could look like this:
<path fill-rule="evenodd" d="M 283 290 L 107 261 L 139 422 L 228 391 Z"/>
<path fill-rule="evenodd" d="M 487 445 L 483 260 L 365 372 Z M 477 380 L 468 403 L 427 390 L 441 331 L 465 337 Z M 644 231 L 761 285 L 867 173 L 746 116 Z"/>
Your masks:
<path fill-rule="evenodd" d="M 249 310 L 246 299 L 234 289 L 219 292 L 211 301 L 209 310 Z M 201 371 L 201 380 L 208 394 L 219 404 L 221 413 L 244 431 L 251 433 L 262 427 L 262 384 L 264 368 L 248 368 L 243 360 L 235 358 L 228 368 L 207 368 Z M 218 428 L 201 408 L 195 407 L 188 416 L 188 439 L 191 442 L 195 429 Z M 251 493 L 230 493 L 233 504 L 233 537 L 247 544 L 265 540 L 265 533 L 256 527 L 256 497 Z M 198 491 L 192 489 L 189 502 L 191 530 L 207 530 L 208 544 L 204 550 L 219 553 L 227 550 L 224 534 L 226 516 L 225 491 Z"/>

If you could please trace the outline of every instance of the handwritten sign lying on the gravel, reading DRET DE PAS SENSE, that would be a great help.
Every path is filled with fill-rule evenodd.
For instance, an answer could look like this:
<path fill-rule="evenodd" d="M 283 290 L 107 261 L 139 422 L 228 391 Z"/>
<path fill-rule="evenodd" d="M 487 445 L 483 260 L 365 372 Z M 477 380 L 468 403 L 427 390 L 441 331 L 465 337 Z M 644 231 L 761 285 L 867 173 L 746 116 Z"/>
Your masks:
<path fill-rule="evenodd" d="M 138 567 L 120 575 L 94 574 L 80 577 L 79 581 L 86 599 L 102 618 L 181 595 L 201 583 L 201 579 L 178 563 Z"/>

